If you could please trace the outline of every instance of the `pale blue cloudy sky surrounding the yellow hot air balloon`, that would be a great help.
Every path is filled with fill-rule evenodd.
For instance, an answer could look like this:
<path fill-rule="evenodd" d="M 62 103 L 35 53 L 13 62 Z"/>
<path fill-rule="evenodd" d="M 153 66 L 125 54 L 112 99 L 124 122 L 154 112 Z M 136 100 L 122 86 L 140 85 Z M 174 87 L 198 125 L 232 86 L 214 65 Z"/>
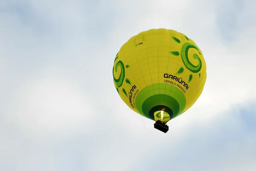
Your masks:
<path fill-rule="evenodd" d="M 255 171 L 256 1 L 0 0 L 1 171 Z M 139 32 L 199 46 L 207 81 L 169 131 L 131 110 L 113 61 Z"/>

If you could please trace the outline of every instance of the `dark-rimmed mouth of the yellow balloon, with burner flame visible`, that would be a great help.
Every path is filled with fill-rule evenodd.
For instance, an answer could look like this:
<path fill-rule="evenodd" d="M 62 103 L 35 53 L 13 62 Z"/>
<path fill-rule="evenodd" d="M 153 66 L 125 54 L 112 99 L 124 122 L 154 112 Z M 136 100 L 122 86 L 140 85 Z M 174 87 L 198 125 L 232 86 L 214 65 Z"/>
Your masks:
<path fill-rule="evenodd" d="M 158 105 L 151 108 L 149 116 L 156 122 L 160 120 L 161 122 L 167 123 L 172 119 L 172 110 L 164 105 Z"/>

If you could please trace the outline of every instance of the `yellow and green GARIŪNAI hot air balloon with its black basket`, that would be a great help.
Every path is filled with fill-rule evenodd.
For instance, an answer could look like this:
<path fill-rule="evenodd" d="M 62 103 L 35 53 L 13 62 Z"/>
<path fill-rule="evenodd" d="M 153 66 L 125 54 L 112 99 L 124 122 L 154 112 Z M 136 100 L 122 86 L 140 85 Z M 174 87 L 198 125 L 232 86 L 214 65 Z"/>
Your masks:
<path fill-rule="evenodd" d="M 113 81 L 121 99 L 164 133 L 169 130 L 167 122 L 197 101 L 206 78 L 203 53 L 175 30 L 140 32 L 114 59 Z"/>

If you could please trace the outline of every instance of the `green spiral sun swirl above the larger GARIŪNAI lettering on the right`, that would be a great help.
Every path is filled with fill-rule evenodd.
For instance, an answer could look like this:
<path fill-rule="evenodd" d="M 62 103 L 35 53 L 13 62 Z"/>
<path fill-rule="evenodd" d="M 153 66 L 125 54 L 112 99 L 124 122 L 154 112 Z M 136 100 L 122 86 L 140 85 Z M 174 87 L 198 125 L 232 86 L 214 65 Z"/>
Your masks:
<path fill-rule="evenodd" d="M 199 71 L 201 70 L 201 68 L 202 68 L 202 61 L 201 61 L 201 59 L 199 58 L 199 56 L 198 56 L 197 54 L 194 54 L 194 55 L 193 55 L 193 58 L 195 58 L 195 59 L 198 60 L 198 65 L 197 65 L 197 66 L 193 65 L 193 64 L 189 61 L 188 52 L 189 52 L 189 49 L 190 49 L 190 48 L 195 48 L 195 49 L 197 49 L 198 53 L 201 54 L 201 53 L 199 52 L 197 46 L 195 46 L 195 45 L 193 45 L 193 44 L 191 44 L 191 43 L 188 42 L 188 43 L 183 44 L 183 46 L 181 47 L 181 54 L 180 54 L 180 55 L 181 55 L 181 59 L 182 59 L 182 61 L 183 61 L 183 64 L 185 65 L 185 67 L 186 67 L 189 71 L 191 71 L 191 72 L 193 72 L 193 73 L 197 73 L 197 72 L 199 72 Z"/>

